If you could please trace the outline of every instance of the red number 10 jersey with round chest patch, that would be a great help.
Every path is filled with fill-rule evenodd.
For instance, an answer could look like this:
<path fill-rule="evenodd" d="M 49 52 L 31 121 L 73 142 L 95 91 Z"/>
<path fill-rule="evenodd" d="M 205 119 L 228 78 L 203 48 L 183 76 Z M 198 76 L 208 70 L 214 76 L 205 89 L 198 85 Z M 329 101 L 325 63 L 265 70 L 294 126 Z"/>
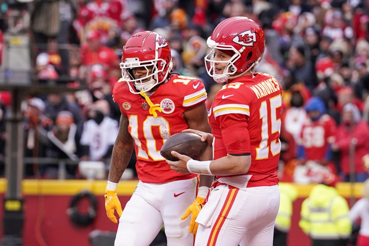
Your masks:
<path fill-rule="evenodd" d="M 134 85 L 131 85 L 134 87 Z M 196 174 L 181 174 L 170 170 L 160 155 L 160 149 L 169 136 L 189 128 L 183 112 L 206 100 L 204 84 L 195 78 L 171 75 L 150 96 L 153 104 L 160 104 L 158 117 L 149 114 L 149 105 L 139 94 L 133 94 L 125 81 L 117 82 L 113 98 L 129 120 L 128 131 L 135 141 L 138 178 L 147 183 L 166 183 L 192 179 Z"/>

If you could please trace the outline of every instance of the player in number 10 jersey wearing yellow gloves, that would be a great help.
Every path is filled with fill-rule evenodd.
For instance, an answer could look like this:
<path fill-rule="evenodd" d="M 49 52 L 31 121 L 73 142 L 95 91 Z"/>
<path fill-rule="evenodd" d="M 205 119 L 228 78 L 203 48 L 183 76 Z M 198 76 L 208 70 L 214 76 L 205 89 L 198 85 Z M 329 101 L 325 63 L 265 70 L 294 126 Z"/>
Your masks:
<path fill-rule="evenodd" d="M 200 177 L 198 184 L 197 174 L 170 170 L 160 149 L 183 129 L 210 132 L 204 85 L 170 73 L 169 44 L 155 32 L 132 35 L 123 47 L 120 67 L 123 77 L 114 86 L 113 98 L 122 115 L 105 194 L 108 217 L 117 223 L 114 209 L 120 215 L 114 245 L 149 245 L 165 225 L 168 245 L 192 246 L 194 235 L 189 232 L 196 233 L 194 219 L 213 177 Z M 139 182 L 122 213 L 116 188 L 133 147 Z M 211 148 L 203 159 L 212 159 Z M 191 213 L 193 218 L 187 218 Z"/>

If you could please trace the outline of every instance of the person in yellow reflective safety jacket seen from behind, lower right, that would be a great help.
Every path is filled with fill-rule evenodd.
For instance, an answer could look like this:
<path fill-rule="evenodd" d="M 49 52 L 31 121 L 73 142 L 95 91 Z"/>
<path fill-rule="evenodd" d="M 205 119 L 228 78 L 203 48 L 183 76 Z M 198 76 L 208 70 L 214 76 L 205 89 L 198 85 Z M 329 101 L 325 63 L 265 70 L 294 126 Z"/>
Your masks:
<path fill-rule="evenodd" d="M 315 185 L 302 203 L 299 226 L 312 246 L 346 246 L 351 234 L 347 201 L 334 185 L 334 174 L 324 174 L 322 184 Z"/>

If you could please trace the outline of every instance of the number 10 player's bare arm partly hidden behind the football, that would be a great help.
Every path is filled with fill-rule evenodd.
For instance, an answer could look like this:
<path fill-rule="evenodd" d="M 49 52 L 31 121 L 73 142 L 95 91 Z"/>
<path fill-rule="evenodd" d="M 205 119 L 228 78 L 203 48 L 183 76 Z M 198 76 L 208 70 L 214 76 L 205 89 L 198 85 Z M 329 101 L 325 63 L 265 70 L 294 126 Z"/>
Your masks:
<path fill-rule="evenodd" d="M 208 123 L 207 109 L 205 103 L 200 103 L 189 109 L 187 109 L 183 116 L 187 121 L 187 125 L 190 129 L 198 130 L 201 132 L 211 133 L 211 128 Z M 200 160 L 213 160 L 213 147 L 208 146 L 203 156 Z M 210 187 L 213 183 L 214 176 L 200 175 L 199 186 Z"/>

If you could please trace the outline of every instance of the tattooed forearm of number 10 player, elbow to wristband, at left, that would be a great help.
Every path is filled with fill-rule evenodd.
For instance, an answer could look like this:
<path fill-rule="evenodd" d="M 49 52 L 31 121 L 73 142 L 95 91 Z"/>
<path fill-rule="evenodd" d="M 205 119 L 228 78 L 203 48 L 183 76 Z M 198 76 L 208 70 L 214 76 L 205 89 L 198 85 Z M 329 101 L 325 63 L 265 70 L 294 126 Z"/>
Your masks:
<path fill-rule="evenodd" d="M 128 163 L 133 151 L 133 143 L 121 143 L 116 141 L 111 155 L 109 181 L 118 183 Z"/>

